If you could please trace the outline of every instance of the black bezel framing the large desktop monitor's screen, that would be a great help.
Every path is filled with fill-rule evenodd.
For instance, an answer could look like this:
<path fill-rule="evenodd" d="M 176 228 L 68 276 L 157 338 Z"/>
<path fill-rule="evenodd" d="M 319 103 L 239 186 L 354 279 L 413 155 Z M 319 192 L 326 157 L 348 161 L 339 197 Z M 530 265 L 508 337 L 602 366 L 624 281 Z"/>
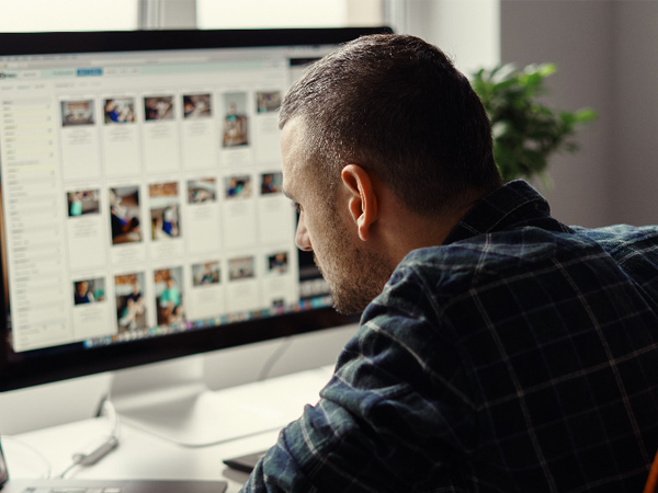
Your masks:
<path fill-rule="evenodd" d="M 0 33 L 0 56 L 338 45 L 361 35 L 390 32 L 388 27 L 322 27 Z M 0 274 L 4 275 L 1 271 Z M 82 343 L 73 343 L 47 352 L 34 349 L 13 353 L 9 341 L 10 322 L 2 283 L 0 290 L 0 303 L 5 320 L 0 342 L 0 392 L 359 321 L 359 316 L 343 316 L 332 308 L 319 308 L 88 349 L 83 349 Z M 63 365 L 64 358 L 67 359 L 67 365 Z"/>

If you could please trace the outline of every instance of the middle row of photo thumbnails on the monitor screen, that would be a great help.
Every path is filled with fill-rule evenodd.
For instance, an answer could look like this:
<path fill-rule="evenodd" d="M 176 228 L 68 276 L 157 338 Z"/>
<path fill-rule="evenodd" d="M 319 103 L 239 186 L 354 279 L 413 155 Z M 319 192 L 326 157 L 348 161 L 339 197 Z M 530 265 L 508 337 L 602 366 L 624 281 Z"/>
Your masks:
<path fill-rule="evenodd" d="M 282 173 L 260 174 L 260 195 L 281 193 Z M 100 214 L 100 190 L 79 190 L 67 193 L 70 218 Z M 253 195 L 252 176 L 226 176 L 224 197 L 227 200 L 249 198 Z M 112 187 L 109 191 L 112 244 L 141 241 L 144 228 L 139 219 L 139 186 Z M 216 179 L 188 181 L 188 203 L 203 204 L 217 200 Z M 181 236 L 179 184 L 149 185 L 151 239 L 162 240 Z"/>

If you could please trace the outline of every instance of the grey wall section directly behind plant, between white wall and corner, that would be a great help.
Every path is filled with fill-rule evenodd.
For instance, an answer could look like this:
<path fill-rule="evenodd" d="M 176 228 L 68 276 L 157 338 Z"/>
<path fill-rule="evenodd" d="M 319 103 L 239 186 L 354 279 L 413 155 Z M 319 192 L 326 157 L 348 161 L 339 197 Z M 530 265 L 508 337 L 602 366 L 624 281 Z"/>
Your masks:
<path fill-rule="evenodd" d="M 567 223 L 602 226 L 611 220 L 611 137 L 613 107 L 615 1 L 537 0 L 501 2 L 501 61 L 523 67 L 555 62 L 548 79 L 548 106 L 591 106 L 599 121 L 581 131 L 577 154 L 555 156 L 545 193 L 554 216 Z"/>

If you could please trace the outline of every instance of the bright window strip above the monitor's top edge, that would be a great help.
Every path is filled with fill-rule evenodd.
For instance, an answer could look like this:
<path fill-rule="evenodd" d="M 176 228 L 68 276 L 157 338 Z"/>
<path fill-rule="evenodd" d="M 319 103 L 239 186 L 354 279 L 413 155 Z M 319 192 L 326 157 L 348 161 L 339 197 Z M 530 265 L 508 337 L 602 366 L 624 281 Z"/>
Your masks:
<path fill-rule="evenodd" d="M 0 32 L 385 24 L 392 0 L 0 0 Z M 399 1 L 399 0 L 398 0 Z M 196 3 L 196 12 L 194 7 Z"/>

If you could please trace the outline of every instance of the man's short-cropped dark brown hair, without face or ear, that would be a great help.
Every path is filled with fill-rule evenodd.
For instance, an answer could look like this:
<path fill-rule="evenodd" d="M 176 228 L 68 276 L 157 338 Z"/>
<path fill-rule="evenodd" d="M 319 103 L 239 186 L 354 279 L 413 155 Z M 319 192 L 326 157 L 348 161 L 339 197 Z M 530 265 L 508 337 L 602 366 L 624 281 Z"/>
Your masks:
<path fill-rule="evenodd" d="M 502 184 L 481 102 L 439 48 L 413 36 L 364 36 L 314 64 L 286 94 L 280 127 L 297 117 L 328 187 L 356 163 L 410 210 L 436 216 Z"/>

